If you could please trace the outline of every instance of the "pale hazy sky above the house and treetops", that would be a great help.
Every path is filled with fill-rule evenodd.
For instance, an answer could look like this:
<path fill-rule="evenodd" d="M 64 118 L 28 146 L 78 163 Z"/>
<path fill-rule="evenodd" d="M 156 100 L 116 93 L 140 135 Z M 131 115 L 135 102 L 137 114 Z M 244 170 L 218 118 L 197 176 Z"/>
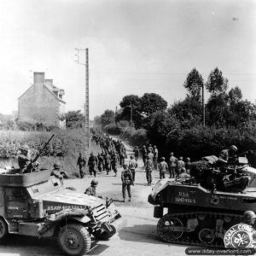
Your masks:
<path fill-rule="evenodd" d="M 83 110 L 76 48 L 89 49 L 90 119 L 131 94 L 172 106 L 194 67 L 205 81 L 218 67 L 229 90 L 256 99 L 254 0 L 1 0 L 0 32 L 0 113 L 18 109 L 33 72 L 65 90 L 66 111 Z"/>

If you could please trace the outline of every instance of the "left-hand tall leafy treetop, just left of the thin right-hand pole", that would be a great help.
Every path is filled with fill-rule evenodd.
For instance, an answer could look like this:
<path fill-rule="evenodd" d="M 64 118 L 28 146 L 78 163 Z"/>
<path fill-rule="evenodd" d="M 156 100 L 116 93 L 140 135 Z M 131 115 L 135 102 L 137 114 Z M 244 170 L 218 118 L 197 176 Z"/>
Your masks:
<path fill-rule="evenodd" d="M 188 74 L 183 86 L 189 90 L 189 97 L 195 101 L 201 101 L 201 88 L 204 85 L 204 81 L 201 74 L 193 68 Z"/>

